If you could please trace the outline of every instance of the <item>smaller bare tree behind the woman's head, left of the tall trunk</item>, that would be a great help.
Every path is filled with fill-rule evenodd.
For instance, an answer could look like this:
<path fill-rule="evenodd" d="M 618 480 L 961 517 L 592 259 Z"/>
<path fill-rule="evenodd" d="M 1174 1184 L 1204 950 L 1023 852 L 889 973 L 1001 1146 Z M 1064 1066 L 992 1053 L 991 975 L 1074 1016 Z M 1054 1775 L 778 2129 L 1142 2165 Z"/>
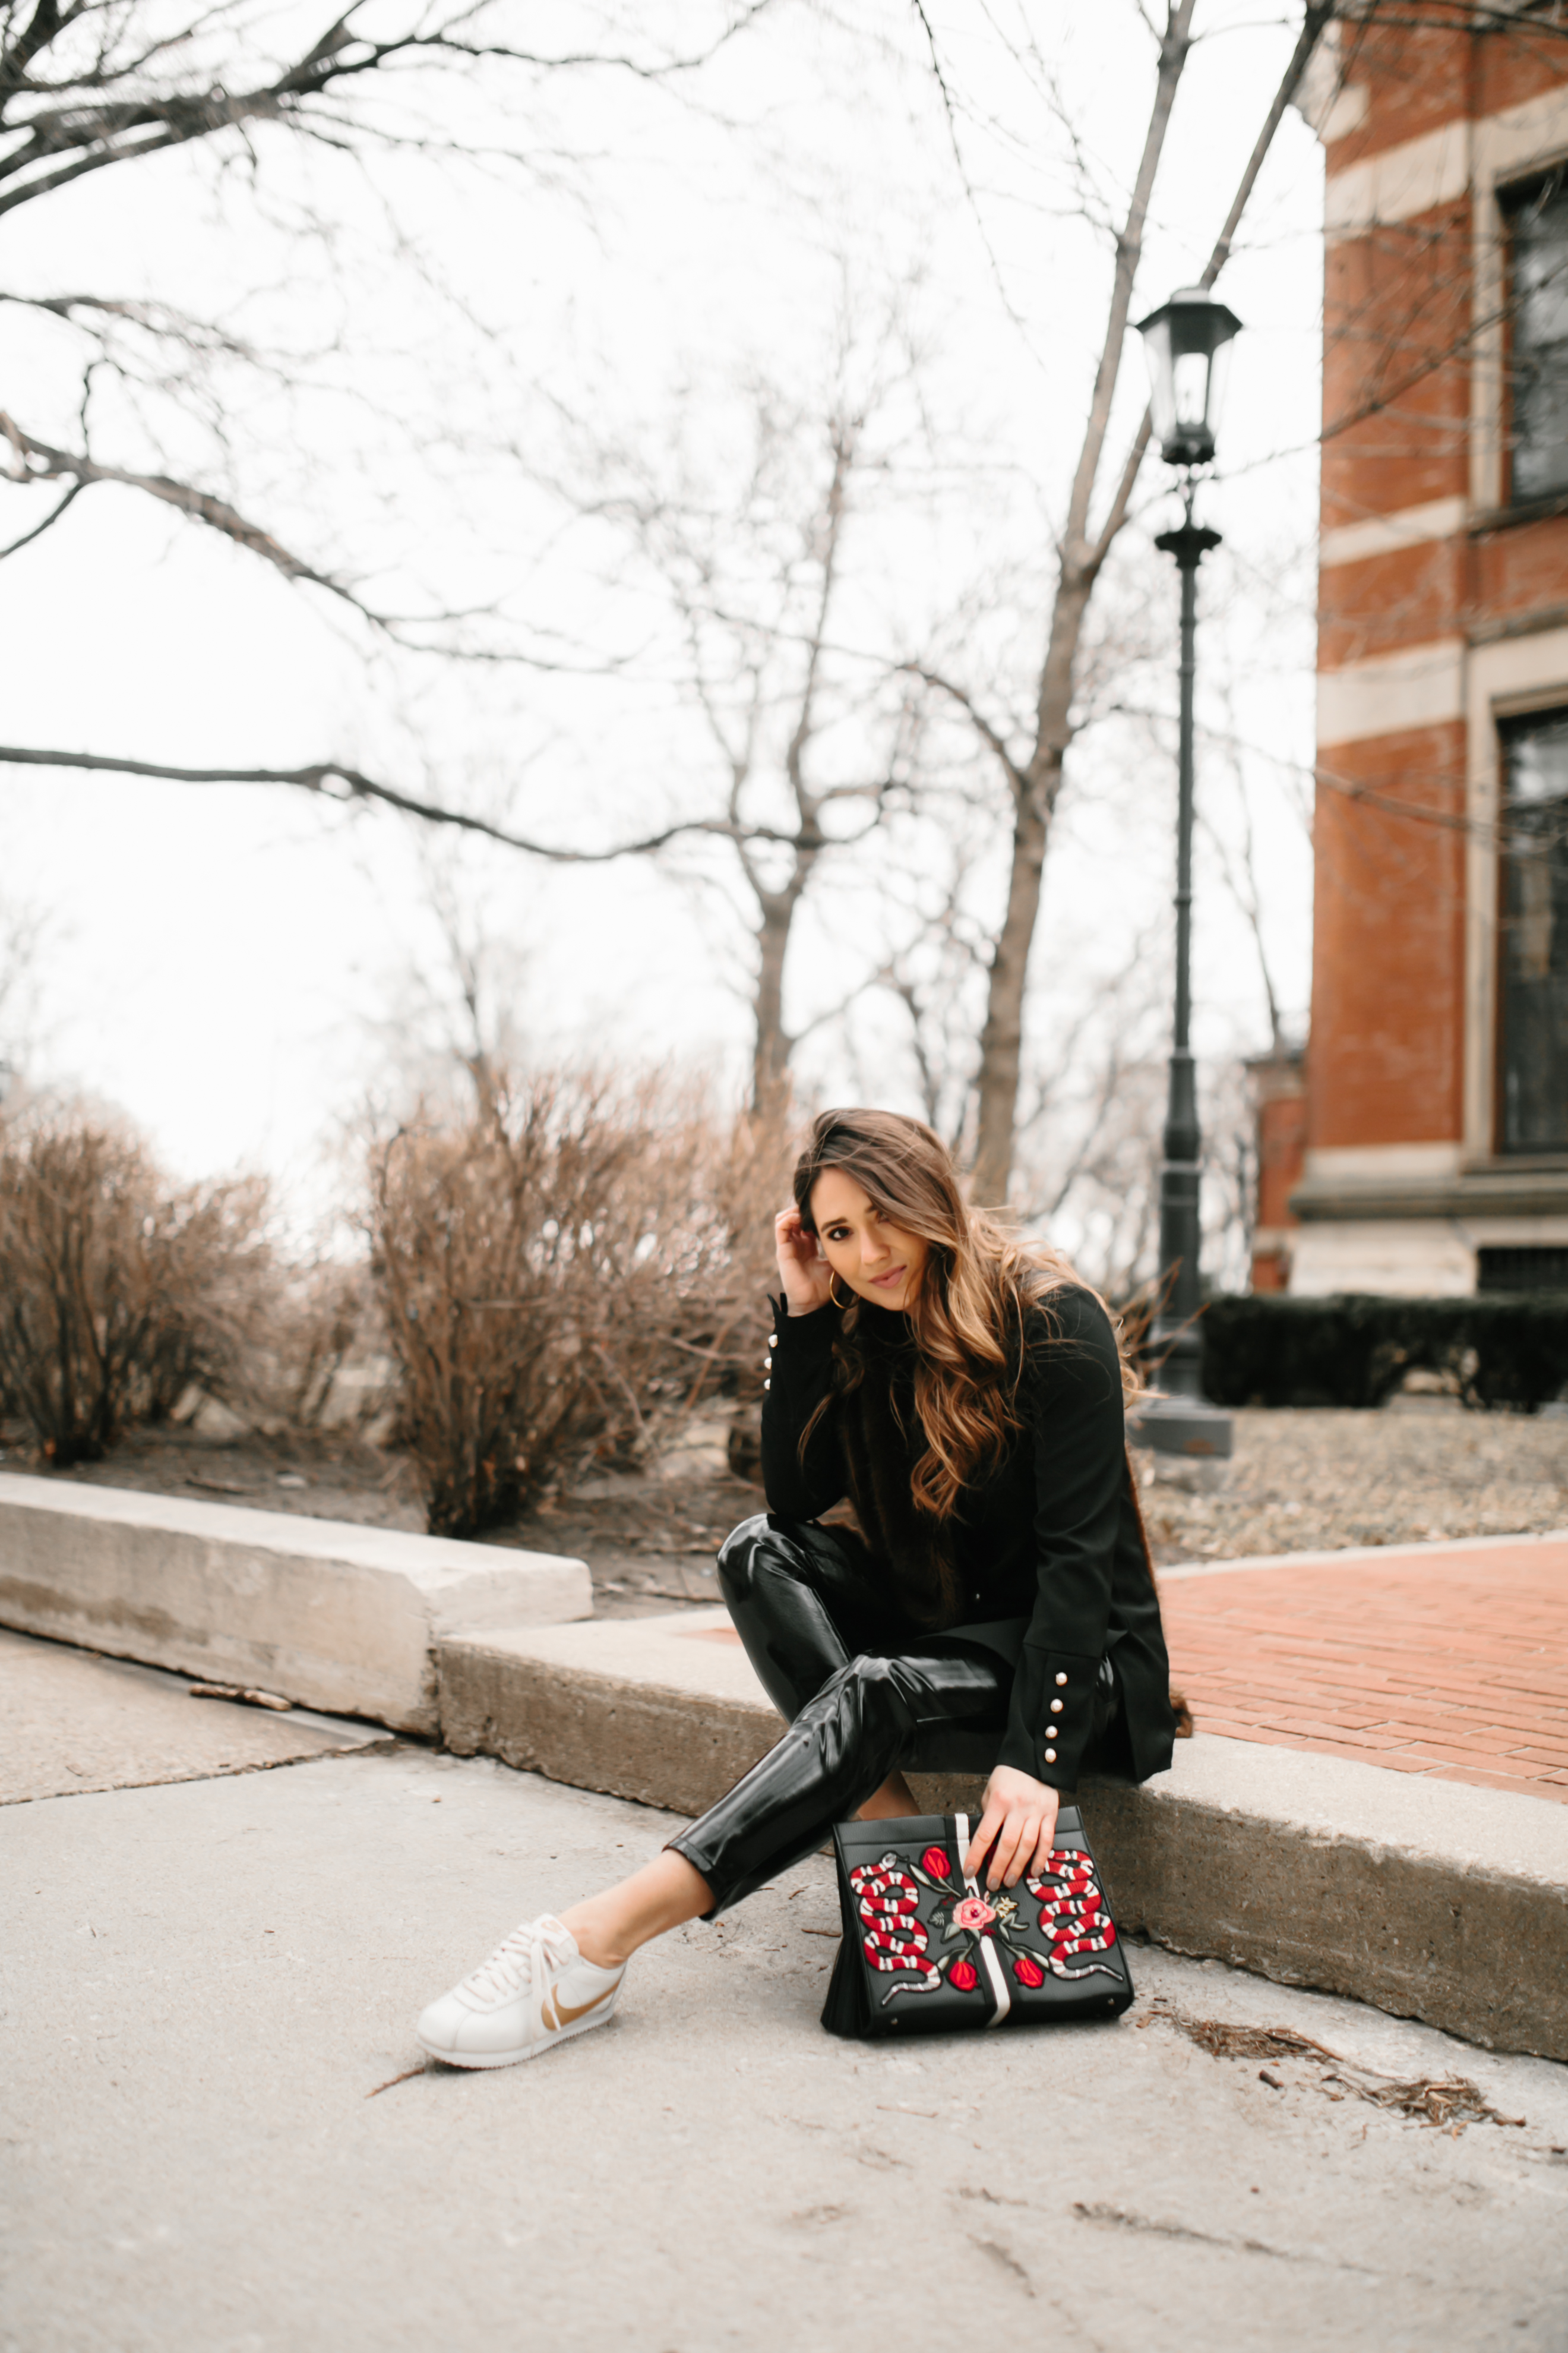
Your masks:
<path fill-rule="evenodd" d="M 877 548 L 860 560 L 856 541 L 875 504 L 900 494 L 919 424 L 917 405 L 914 419 L 900 407 L 912 367 L 896 322 L 860 332 L 846 318 L 820 395 L 752 381 L 729 466 L 684 442 L 663 461 L 595 452 L 578 492 L 630 534 L 665 605 L 663 661 L 705 744 L 703 798 L 717 769 L 708 809 L 654 847 L 729 854 L 698 873 L 726 878 L 750 934 L 755 1115 L 785 1099 L 799 1040 L 882 976 L 875 939 L 839 939 L 827 991 L 792 1024 L 790 953 L 813 887 L 872 835 L 884 852 L 917 798 L 919 696 L 844 642 L 877 593 Z"/>

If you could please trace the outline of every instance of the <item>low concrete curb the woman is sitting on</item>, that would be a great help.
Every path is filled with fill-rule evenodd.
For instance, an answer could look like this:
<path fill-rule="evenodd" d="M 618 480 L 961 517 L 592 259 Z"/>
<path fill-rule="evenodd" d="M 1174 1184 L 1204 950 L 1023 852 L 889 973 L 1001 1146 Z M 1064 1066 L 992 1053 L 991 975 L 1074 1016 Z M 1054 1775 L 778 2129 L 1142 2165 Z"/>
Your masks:
<path fill-rule="evenodd" d="M 698 1814 L 778 1737 L 722 1609 L 437 1642 L 442 1737 Z M 931 1809 L 978 1781 L 917 1779 Z M 1084 1819 L 1128 1929 L 1349 1993 L 1488 2049 L 1568 2061 L 1568 1807 L 1199 1737 Z"/>

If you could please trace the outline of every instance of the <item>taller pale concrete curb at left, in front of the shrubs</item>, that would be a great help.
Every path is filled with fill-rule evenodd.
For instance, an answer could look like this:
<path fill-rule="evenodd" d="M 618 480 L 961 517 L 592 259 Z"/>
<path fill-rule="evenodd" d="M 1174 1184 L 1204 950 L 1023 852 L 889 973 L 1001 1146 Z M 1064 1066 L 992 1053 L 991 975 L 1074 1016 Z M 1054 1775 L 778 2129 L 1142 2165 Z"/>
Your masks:
<path fill-rule="evenodd" d="M 581 1560 L 0 1473 L 0 1626 L 435 1734 L 435 1642 L 592 1614 Z"/>

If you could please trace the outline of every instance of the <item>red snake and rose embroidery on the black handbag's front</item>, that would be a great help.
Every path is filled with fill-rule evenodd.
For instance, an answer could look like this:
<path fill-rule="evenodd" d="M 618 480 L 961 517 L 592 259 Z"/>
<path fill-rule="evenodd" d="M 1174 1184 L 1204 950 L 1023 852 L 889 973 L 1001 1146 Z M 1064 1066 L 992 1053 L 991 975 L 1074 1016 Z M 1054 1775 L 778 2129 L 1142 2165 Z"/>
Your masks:
<path fill-rule="evenodd" d="M 1025 1880 L 1027 1892 L 1039 1904 L 1039 1937 L 1044 1953 L 1032 1944 L 1018 1899 L 997 1889 L 990 1899 L 980 1894 L 957 1894 L 950 1885 L 952 1864 L 943 1847 L 926 1847 L 919 1864 L 905 1864 L 898 1854 L 884 1854 L 877 1864 L 860 1864 L 851 1871 L 849 1885 L 856 1894 L 863 1934 L 860 1948 L 896 1984 L 882 1995 L 882 2007 L 898 1993 L 936 1993 L 943 1977 L 954 1993 L 973 1993 L 980 1984 L 976 1960 L 980 1939 L 990 1937 L 1006 1953 L 1020 1986 L 1044 1986 L 1046 1969 L 1053 1977 L 1112 1977 L 1103 1962 L 1070 1967 L 1079 1953 L 1105 1953 L 1117 1941 L 1117 1929 L 1105 1911 L 1093 1861 L 1072 1849 L 1058 1847 L 1051 1871 Z M 929 1925 L 919 1918 L 919 1889 L 936 1899 Z M 940 1960 L 931 1958 L 931 1937 L 943 1946 L 957 1946 Z"/>

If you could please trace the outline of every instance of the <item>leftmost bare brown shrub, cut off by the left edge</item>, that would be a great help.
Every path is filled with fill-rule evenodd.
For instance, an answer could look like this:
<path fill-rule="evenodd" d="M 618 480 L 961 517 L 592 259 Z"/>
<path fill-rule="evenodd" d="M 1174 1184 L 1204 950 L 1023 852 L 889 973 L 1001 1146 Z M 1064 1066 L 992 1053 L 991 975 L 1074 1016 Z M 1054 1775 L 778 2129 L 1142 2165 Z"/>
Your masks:
<path fill-rule="evenodd" d="M 0 1134 L 0 1388 L 45 1464 L 99 1461 L 249 1346 L 270 1249 L 259 1179 L 176 1186 L 85 1111 Z"/>

